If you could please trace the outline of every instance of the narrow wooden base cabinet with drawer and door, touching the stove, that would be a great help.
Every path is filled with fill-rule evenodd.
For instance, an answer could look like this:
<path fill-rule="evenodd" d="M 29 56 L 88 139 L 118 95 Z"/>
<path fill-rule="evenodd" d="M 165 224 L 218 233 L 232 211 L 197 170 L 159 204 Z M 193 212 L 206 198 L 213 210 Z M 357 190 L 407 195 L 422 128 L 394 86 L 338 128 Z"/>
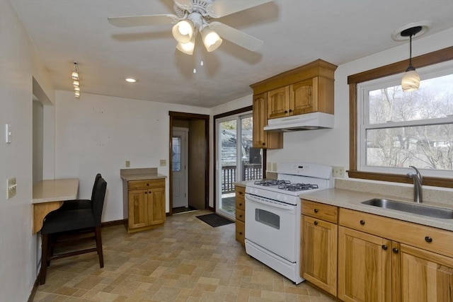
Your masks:
<path fill-rule="evenodd" d="M 302 199 L 301 277 L 337 294 L 338 209 Z"/>

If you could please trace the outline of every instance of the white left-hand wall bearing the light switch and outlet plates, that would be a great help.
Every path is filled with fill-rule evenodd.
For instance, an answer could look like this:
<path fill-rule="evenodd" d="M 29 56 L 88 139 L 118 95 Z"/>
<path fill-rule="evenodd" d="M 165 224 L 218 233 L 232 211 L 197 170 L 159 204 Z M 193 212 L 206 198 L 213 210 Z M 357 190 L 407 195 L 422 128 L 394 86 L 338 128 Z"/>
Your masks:
<path fill-rule="evenodd" d="M 33 78 L 52 105 L 47 71 L 10 2 L 0 1 L 0 301 L 27 301 L 37 275 L 31 205 Z M 11 144 L 5 143 L 6 123 L 11 124 Z M 6 199 L 6 179 L 13 177 L 17 194 Z"/>

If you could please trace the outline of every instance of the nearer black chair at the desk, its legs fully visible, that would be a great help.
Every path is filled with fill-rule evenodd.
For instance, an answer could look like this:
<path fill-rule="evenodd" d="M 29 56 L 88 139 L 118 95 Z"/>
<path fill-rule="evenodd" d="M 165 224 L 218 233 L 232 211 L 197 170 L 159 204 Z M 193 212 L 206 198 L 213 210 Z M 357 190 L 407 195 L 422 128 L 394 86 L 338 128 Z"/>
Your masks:
<path fill-rule="evenodd" d="M 47 266 L 51 260 L 98 252 L 99 267 L 104 267 L 101 215 L 103 211 L 107 182 L 99 178 L 90 209 L 72 209 L 68 211 L 52 211 L 45 216 L 42 224 L 42 256 L 40 269 L 40 284 L 45 284 Z M 87 236 L 90 235 L 90 236 Z M 62 236 L 63 235 L 63 236 Z M 63 238 L 63 239 L 62 239 Z M 96 240 L 96 248 L 85 248 L 62 254 L 53 255 L 55 247 L 76 245 L 86 240 Z"/>

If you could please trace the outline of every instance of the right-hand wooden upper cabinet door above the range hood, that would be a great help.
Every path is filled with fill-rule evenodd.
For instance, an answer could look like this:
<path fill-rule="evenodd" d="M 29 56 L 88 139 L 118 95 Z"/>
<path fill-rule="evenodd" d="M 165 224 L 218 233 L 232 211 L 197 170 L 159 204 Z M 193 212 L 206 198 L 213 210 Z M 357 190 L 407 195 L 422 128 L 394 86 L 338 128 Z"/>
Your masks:
<path fill-rule="evenodd" d="M 318 111 L 317 82 L 318 78 L 316 77 L 290 86 L 289 108 L 292 115 Z"/>

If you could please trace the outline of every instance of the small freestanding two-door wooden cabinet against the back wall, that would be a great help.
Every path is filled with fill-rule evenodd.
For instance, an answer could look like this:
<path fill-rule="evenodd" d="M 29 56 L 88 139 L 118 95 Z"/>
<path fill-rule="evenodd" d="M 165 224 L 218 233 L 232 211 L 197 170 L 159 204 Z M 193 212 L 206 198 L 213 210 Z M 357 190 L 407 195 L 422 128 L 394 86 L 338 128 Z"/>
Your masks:
<path fill-rule="evenodd" d="M 165 223 L 165 179 L 124 182 L 127 232 L 149 230 Z M 127 195 L 127 197 L 126 197 Z"/>

